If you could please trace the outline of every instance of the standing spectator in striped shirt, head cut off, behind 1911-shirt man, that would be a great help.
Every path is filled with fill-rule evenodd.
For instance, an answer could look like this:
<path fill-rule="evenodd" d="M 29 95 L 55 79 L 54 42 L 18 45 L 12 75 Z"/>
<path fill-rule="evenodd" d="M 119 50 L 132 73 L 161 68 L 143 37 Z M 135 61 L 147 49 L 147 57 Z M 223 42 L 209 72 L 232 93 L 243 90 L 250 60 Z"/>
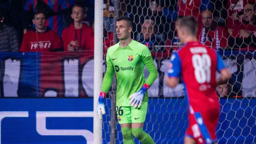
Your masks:
<path fill-rule="evenodd" d="M 70 7 L 70 3 L 73 3 L 74 0 L 51 0 L 45 3 L 43 0 L 27 0 L 25 5 L 25 14 L 23 21 L 24 34 L 29 28 L 29 15 L 33 11 L 42 11 L 46 14 L 46 26 L 50 27 L 51 30 L 57 32 L 61 36 L 62 32 L 62 15 L 64 9 L 67 10 Z M 69 3 L 70 2 L 70 3 Z M 68 10 L 67 10 L 68 11 Z"/>

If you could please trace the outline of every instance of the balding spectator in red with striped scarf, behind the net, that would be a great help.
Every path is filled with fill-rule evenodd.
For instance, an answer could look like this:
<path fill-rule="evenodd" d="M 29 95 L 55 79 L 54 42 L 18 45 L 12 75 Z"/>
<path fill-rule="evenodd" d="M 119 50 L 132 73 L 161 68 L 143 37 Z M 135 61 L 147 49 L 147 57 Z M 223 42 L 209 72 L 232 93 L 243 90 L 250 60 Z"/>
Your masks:
<path fill-rule="evenodd" d="M 218 26 L 212 20 L 212 11 L 206 9 L 202 12 L 202 25 L 198 26 L 197 36 L 201 44 L 212 47 L 216 50 L 226 48 L 228 45 L 228 31 L 222 26 Z"/>

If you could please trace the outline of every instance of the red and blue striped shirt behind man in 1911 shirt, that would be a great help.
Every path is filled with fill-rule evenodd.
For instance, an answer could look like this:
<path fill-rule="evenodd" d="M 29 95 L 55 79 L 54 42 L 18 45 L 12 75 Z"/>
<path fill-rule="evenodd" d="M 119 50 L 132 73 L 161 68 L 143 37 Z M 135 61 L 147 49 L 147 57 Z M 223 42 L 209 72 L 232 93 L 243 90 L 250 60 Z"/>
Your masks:
<path fill-rule="evenodd" d="M 53 12 L 56 12 L 56 13 L 70 6 L 68 0 L 42 0 L 42 1 L 45 2 L 52 9 Z M 36 4 L 37 4 L 37 0 L 27 0 L 24 9 L 27 11 L 35 12 Z M 61 32 L 63 29 L 62 16 L 55 15 L 55 16 L 49 17 L 46 21 L 46 26 L 50 27 L 51 30 L 57 32 L 61 36 Z"/>

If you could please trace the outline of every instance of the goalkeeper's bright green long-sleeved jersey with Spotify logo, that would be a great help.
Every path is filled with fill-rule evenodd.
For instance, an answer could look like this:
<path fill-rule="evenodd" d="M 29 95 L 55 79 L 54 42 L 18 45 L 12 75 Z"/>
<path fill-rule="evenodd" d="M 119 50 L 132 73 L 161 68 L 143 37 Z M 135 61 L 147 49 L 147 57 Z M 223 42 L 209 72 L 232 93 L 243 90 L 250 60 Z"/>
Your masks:
<path fill-rule="evenodd" d="M 111 46 L 106 55 L 107 69 L 102 82 L 101 91 L 108 92 L 115 72 L 117 79 L 116 103 L 119 106 L 130 106 L 129 96 L 147 83 L 152 85 L 157 78 L 157 70 L 147 46 L 132 40 L 126 47 L 119 43 Z M 145 81 L 144 66 L 150 75 Z M 148 102 L 146 92 L 143 103 Z"/>

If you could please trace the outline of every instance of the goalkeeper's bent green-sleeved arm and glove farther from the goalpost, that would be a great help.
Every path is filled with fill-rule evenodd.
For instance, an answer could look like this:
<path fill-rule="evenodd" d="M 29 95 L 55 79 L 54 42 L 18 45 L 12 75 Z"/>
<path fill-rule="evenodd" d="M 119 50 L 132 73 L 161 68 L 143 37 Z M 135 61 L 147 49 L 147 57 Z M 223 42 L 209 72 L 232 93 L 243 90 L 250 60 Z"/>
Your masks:
<path fill-rule="evenodd" d="M 151 56 L 142 58 L 142 61 L 146 65 L 147 70 L 149 71 L 149 76 L 147 78 L 146 83 L 143 85 L 143 87 L 138 92 L 135 92 L 129 97 L 131 99 L 130 105 L 135 108 L 141 107 L 146 91 L 154 83 L 158 75 L 155 64 Z"/>

